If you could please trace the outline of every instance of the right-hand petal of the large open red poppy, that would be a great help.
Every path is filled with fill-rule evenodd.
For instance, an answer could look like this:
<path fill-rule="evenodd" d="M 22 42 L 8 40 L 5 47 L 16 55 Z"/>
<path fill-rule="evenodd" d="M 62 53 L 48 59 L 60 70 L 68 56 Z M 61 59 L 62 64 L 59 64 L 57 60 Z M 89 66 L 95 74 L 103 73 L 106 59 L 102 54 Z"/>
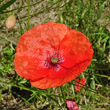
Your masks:
<path fill-rule="evenodd" d="M 76 30 L 68 31 L 60 43 L 60 51 L 65 58 L 62 66 L 70 69 L 88 60 L 88 64 L 85 65 L 87 67 L 93 57 L 92 44 L 85 35 Z"/>

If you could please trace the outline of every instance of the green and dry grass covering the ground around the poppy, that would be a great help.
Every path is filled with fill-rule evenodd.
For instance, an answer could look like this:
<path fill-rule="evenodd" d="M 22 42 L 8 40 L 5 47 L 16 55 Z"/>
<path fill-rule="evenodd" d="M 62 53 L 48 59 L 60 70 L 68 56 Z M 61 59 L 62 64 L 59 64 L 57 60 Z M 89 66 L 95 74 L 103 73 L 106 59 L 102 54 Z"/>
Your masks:
<path fill-rule="evenodd" d="M 66 110 L 65 100 L 71 98 L 81 110 L 109 110 L 110 31 L 106 27 L 110 23 L 102 25 L 98 21 L 110 20 L 110 1 L 21 0 L 6 5 L 11 3 L 9 1 L 0 0 L 0 103 L 3 105 L 0 107 L 17 110 L 17 106 L 21 105 L 21 110 L 23 107 L 27 107 L 27 110 Z M 51 10 L 55 12 L 54 16 Z M 16 27 L 7 30 L 4 22 L 13 13 L 17 16 Z M 75 91 L 74 81 L 60 87 L 40 90 L 31 86 L 29 80 L 19 77 L 14 70 L 14 55 L 20 36 L 34 25 L 49 21 L 60 22 L 81 31 L 92 42 L 94 57 L 91 65 L 79 76 L 85 77 L 87 81 L 80 92 Z M 6 104 L 5 94 L 10 97 L 9 100 L 18 99 L 21 103 L 16 101 L 14 106 L 8 101 Z"/>

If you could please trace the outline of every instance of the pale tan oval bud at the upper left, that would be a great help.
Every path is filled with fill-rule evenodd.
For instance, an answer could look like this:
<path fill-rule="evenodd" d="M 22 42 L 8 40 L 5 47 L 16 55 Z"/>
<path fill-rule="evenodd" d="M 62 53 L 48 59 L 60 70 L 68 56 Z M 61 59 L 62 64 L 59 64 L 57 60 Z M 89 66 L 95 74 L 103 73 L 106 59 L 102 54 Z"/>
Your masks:
<path fill-rule="evenodd" d="M 6 20 L 6 27 L 8 29 L 13 28 L 16 23 L 16 17 L 14 15 L 10 15 Z"/>

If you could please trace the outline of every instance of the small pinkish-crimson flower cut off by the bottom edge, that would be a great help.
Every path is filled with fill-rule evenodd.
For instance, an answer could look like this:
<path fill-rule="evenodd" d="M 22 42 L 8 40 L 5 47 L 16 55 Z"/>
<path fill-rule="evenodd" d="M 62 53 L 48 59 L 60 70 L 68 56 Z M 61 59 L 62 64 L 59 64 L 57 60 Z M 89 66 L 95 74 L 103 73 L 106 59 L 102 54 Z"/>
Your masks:
<path fill-rule="evenodd" d="M 68 110 L 79 110 L 79 107 L 73 99 L 66 100 L 66 107 L 68 108 Z"/>

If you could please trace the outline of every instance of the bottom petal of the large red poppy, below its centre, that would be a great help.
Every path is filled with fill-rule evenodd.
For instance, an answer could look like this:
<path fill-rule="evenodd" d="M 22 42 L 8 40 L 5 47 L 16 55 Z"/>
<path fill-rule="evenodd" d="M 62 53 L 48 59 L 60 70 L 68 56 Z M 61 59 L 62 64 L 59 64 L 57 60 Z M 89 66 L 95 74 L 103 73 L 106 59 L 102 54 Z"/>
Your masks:
<path fill-rule="evenodd" d="M 88 63 L 88 62 L 87 62 Z M 52 87 L 57 87 L 60 85 L 63 85 L 73 79 L 75 79 L 79 74 L 80 71 L 84 70 L 85 67 L 83 67 L 83 63 L 79 65 L 79 70 L 76 68 L 74 68 L 74 70 L 62 70 L 64 72 L 58 72 L 59 74 L 57 74 L 57 72 L 53 72 L 54 70 L 51 69 L 49 70 L 49 74 L 47 77 L 41 78 L 41 79 L 31 79 L 30 83 L 37 88 L 40 89 L 47 89 L 47 88 L 52 88 Z M 63 68 L 62 68 L 63 69 Z M 67 71 L 68 70 L 68 71 Z M 52 76 L 50 76 L 50 74 Z"/>

